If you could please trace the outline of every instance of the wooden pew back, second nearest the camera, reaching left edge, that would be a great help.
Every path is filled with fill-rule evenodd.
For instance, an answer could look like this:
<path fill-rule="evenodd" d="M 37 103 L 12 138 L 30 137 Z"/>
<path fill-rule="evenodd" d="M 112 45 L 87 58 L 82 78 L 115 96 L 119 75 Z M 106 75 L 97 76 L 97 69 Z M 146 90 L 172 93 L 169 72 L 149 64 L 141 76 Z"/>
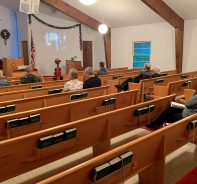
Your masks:
<path fill-rule="evenodd" d="M 174 98 L 175 95 L 171 95 L 2 141 L 0 142 L 0 181 L 48 164 L 88 147 L 93 148 L 94 156 L 109 151 L 111 138 L 155 120 Z M 137 109 L 150 107 L 151 105 L 155 105 L 152 112 L 141 115 L 140 118 L 134 116 Z M 79 109 L 73 110 L 80 112 Z M 36 110 L 34 112 L 36 112 Z M 44 123 L 50 122 L 56 124 L 58 122 L 64 122 L 64 109 L 62 108 L 56 111 L 56 114 L 56 117 L 54 117 L 48 113 L 48 120 Z M 139 120 L 138 123 L 137 119 Z M 75 138 L 46 148 L 37 148 L 39 138 L 64 132 L 72 128 L 76 128 L 77 130 Z M 147 148 L 149 147 L 150 145 L 148 144 Z M 144 147 L 144 149 L 145 148 L 146 147 Z"/>

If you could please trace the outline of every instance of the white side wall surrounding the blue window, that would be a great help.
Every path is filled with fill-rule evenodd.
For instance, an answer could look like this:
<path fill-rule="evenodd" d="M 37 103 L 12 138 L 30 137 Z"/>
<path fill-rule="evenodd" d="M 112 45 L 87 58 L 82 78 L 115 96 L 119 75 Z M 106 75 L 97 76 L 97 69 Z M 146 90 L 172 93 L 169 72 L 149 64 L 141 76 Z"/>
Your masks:
<path fill-rule="evenodd" d="M 161 71 L 175 66 L 175 30 L 168 23 L 147 24 L 112 29 L 112 68 L 133 68 L 133 42 L 151 41 L 151 65 Z"/>

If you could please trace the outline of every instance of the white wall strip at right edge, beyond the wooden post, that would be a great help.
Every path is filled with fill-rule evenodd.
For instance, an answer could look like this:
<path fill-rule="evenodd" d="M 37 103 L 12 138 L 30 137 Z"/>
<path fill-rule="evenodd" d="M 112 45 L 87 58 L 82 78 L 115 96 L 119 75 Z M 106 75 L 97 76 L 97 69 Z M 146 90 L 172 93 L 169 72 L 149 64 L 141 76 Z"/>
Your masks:
<path fill-rule="evenodd" d="M 197 19 L 184 23 L 183 72 L 197 70 Z"/>

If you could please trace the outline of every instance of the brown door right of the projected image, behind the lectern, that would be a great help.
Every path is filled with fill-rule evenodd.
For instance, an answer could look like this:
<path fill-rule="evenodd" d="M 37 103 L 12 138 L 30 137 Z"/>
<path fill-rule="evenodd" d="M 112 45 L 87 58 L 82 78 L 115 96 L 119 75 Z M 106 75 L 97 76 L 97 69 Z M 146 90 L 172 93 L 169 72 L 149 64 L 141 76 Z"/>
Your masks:
<path fill-rule="evenodd" d="M 92 67 L 92 41 L 83 41 L 83 67 Z"/>

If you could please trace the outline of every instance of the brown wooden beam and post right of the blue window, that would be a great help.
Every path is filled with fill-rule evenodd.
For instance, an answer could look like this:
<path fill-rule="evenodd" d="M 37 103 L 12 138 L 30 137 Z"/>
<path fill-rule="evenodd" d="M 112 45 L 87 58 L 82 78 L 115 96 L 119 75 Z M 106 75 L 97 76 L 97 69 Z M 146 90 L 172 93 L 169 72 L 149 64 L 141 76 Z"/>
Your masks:
<path fill-rule="evenodd" d="M 184 20 L 162 0 L 141 0 L 175 28 L 176 69 L 182 72 Z"/>

